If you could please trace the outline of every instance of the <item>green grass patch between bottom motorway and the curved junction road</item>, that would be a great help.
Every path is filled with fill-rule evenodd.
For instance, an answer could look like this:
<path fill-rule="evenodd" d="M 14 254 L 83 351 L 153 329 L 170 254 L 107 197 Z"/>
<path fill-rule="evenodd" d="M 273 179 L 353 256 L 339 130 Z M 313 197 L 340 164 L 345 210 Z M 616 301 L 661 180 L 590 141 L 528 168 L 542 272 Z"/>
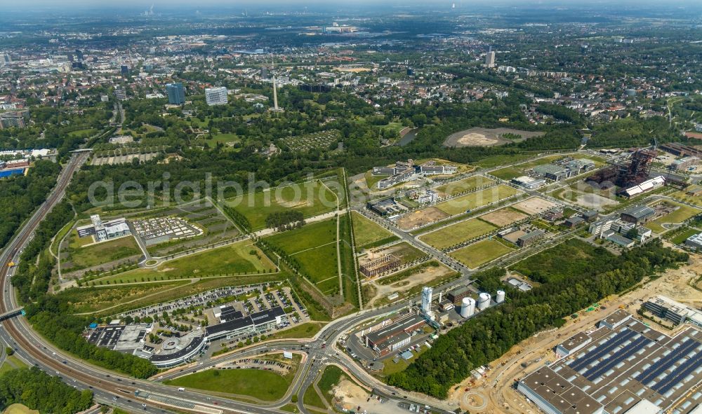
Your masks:
<path fill-rule="evenodd" d="M 261 369 L 210 369 L 164 383 L 178 387 L 252 396 L 263 401 L 276 401 L 287 392 L 293 375 L 294 372 L 280 375 Z"/>

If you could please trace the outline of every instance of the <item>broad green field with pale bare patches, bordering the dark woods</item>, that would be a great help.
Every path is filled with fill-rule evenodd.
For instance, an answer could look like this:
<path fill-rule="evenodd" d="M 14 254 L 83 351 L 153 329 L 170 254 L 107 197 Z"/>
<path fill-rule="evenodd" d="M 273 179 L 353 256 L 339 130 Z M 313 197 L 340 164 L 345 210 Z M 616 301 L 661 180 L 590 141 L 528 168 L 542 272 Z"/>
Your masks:
<path fill-rule="evenodd" d="M 252 230 L 260 230 L 265 228 L 265 219 L 273 212 L 293 209 L 312 217 L 333 211 L 336 202 L 336 196 L 326 186 L 319 181 L 308 181 L 230 198 L 227 205 L 244 214 Z"/>

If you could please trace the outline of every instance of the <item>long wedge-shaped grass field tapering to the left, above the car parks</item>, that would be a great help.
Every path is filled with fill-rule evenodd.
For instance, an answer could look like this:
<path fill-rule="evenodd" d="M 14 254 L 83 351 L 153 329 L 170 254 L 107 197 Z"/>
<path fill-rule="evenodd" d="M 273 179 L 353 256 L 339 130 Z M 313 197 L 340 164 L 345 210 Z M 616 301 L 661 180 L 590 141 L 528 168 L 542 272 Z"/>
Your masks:
<path fill-rule="evenodd" d="M 251 254 L 251 252 L 254 254 Z M 251 240 L 243 240 L 202 253 L 167 261 L 158 268 L 135 269 L 98 279 L 96 282 L 133 283 L 238 273 L 272 272 L 275 266 Z"/>

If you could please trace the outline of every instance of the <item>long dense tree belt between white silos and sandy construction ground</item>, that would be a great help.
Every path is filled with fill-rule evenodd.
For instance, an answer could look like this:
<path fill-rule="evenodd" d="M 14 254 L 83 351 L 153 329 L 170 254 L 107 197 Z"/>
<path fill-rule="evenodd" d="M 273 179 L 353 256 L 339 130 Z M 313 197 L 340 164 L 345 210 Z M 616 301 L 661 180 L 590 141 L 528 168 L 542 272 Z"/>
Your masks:
<path fill-rule="evenodd" d="M 580 242 L 578 242 L 580 243 Z M 548 258 L 553 251 L 540 255 Z M 510 347 L 534 333 L 557 326 L 562 318 L 590 303 L 633 287 L 645 276 L 687 261 L 687 254 L 663 247 L 659 240 L 609 255 L 614 268 L 585 274 L 571 273 L 526 293 L 510 291 L 510 301 L 481 312 L 444 336 L 405 371 L 390 375 L 388 383 L 446 398 L 451 385 L 468 377 L 473 368 L 501 357 Z M 503 272 L 480 275 L 482 287 L 496 287 Z"/>

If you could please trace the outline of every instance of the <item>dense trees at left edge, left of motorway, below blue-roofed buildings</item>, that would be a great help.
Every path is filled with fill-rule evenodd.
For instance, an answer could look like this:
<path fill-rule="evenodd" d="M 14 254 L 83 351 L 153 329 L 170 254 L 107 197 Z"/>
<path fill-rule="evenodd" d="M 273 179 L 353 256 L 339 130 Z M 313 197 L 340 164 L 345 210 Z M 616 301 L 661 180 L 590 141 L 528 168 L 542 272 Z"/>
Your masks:
<path fill-rule="evenodd" d="M 0 248 L 10 241 L 20 223 L 46 200 L 60 170 L 56 163 L 38 160 L 26 176 L 0 179 Z"/>

